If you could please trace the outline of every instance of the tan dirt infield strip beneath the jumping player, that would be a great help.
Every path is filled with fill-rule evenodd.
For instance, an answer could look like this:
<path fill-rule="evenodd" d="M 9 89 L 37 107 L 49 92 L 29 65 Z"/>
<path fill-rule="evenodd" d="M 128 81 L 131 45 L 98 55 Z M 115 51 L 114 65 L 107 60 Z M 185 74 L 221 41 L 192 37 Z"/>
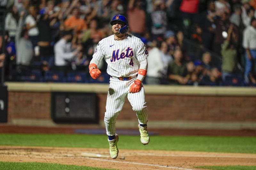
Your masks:
<path fill-rule="evenodd" d="M 195 166 L 256 166 L 256 154 L 119 149 L 119 157 L 125 157 L 123 160 L 82 157 L 82 152 L 109 155 L 108 149 L 96 148 L 0 146 L 0 161 L 59 163 L 120 170 L 194 170 Z"/>

